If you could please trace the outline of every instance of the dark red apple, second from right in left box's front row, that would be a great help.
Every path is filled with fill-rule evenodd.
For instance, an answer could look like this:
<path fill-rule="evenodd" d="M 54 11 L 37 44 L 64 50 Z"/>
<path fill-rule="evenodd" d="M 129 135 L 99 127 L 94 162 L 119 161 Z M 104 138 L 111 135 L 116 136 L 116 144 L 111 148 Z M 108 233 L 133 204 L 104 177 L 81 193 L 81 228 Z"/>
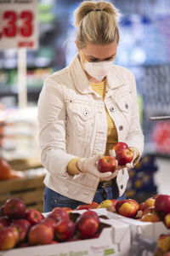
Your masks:
<path fill-rule="evenodd" d="M 76 226 L 71 219 L 61 219 L 55 229 L 55 238 L 58 241 L 66 241 L 74 236 Z"/>

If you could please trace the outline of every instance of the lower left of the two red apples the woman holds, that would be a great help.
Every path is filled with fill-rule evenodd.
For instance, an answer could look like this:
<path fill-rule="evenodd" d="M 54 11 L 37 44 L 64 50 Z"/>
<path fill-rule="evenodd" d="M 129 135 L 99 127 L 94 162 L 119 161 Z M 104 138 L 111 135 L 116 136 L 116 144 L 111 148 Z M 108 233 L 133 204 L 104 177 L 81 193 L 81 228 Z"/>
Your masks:
<path fill-rule="evenodd" d="M 98 161 L 99 172 L 115 172 L 117 162 L 111 155 L 105 155 Z"/>

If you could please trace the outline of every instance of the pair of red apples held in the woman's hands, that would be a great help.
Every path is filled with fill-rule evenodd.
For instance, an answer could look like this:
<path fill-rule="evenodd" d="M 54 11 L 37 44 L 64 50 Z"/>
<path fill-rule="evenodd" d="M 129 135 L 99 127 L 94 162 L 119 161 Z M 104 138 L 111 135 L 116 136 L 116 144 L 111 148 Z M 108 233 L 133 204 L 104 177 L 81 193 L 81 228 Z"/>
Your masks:
<path fill-rule="evenodd" d="M 127 143 L 115 143 L 113 148 L 115 157 L 105 155 L 98 161 L 99 172 L 115 172 L 117 165 L 126 166 L 133 160 L 133 152 L 128 148 Z"/>

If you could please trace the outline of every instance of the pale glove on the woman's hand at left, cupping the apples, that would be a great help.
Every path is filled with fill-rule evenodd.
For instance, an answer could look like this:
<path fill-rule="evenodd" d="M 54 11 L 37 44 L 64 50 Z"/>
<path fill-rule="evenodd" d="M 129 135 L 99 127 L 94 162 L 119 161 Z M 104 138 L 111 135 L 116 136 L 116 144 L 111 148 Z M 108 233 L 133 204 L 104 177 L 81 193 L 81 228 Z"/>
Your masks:
<path fill-rule="evenodd" d="M 112 172 L 99 172 L 97 168 L 97 161 L 102 157 L 103 155 L 97 154 L 93 157 L 89 158 L 81 158 L 77 160 L 77 168 L 81 172 L 89 172 L 92 175 L 99 177 L 99 178 L 107 178 L 111 177 Z"/>

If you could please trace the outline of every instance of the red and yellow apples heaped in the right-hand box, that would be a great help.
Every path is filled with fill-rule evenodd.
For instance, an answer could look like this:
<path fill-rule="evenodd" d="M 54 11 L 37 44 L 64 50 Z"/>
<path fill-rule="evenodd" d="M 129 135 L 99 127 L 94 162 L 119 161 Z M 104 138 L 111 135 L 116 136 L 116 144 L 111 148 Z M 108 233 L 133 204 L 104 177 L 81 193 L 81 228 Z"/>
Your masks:
<path fill-rule="evenodd" d="M 133 199 L 122 199 L 121 201 L 108 199 L 95 207 L 106 208 L 110 212 L 144 222 L 163 221 L 167 229 L 170 229 L 170 195 L 153 195 L 141 204 Z"/>

